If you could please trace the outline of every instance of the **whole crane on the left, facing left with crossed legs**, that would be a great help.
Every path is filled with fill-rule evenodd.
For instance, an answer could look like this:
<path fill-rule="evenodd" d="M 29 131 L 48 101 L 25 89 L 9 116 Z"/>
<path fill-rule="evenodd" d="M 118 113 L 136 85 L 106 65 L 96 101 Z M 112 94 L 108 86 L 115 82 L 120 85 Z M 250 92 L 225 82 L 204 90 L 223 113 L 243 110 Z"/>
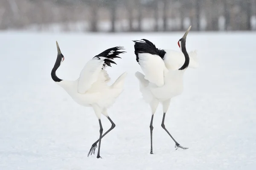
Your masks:
<path fill-rule="evenodd" d="M 119 51 L 122 49 L 121 47 L 113 47 L 103 51 L 101 54 L 93 57 L 85 64 L 78 79 L 74 81 L 67 81 L 59 79 L 55 74 L 56 70 L 64 60 L 64 56 L 61 54 L 58 42 L 56 42 L 56 44 L 58 57 L 54 67 L 52 68 L 52 79 L 64 88 L 64 90 L 67 91 L 72 99 L 79 105 L 93 108 L 97 118 L 99 119 L 100 138 L 92 145 L 88 156 L 89 154 L 94 154 L 97 143 L 99 142 L 97 158 L 100 158 L 99 150 L 101 138 L 115 127 L 115 124 L 108 116 L 107 109 L 113 105 L 116 98 L 122 93 L 125 77 L 127 75 L 127 73 L 124 72 L 112 85 L 109 86 L 107 83 L 110 81 L 110 77 L 108 76 L 105 68 L 107 66 L 111 66 L 111 63 L 116 64 L 113 59 L 120 58 L 118 55 L 125 51 Z M 112 124 L 111 128 L 103 135 L 103 128 L 100 121 L 101 114 L 107 116 Z"/>

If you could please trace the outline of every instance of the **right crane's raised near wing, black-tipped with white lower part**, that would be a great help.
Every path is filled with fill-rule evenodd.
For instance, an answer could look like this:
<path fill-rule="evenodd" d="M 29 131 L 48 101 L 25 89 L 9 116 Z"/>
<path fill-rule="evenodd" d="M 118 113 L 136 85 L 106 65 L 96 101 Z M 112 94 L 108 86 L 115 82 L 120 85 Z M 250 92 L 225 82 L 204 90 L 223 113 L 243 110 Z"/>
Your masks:
<path fill-rule="evenodd" d="M 134 42 L 134 53 L 137 62 L 145 74 L 144 78 L 158 87 L 163 86 L 164 75 L 168 72 L 163 62 L 166 52 L 159 50 L 152 42 L 145 39 Z"/>

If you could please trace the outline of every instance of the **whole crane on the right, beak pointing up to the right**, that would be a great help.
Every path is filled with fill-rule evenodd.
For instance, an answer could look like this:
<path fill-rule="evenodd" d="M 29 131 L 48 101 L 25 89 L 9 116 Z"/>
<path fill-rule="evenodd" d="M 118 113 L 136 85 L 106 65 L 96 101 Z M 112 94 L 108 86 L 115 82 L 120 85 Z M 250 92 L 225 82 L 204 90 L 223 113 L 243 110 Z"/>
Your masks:
<path fill-rule="evenodd" d="M 163 105 L 163 121 L 162 127 L 175 142 L 175 148 L 180 146 L 172 135 L 168 132 L 164 125 L 165 114 L 168 111 L 170 101 L 173 97 L 183 92 L 183 74 L 187 67 L 197 68 L 198 59 L 197 52 L 191 51 L 189 54 L 186 51 L 186 36 L 190 30 L 186 31 L 184 36 L 178 41 L 178 45 L 182 52 L 173 50 L 160 50 L 155 45 L 143 39 L 143 41 L 134 41 L 134 53 L 137 57 L 137 62 L 144 74 L 136 72 L 135 76 L 140 82 L 140 92 L 143 99 L 151 107 L 151 154 L 152 149 L 152 130 L 153 117 L 159 105 Z M 190 62 L 192 61 L 192 62 Z"/>

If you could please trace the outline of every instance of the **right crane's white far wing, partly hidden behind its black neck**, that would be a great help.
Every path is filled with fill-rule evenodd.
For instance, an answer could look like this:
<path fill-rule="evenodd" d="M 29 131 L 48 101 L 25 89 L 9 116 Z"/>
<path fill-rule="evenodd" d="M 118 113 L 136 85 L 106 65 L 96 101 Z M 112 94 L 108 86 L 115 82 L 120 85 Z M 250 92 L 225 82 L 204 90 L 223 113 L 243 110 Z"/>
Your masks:
<path fill-rule="evenodd" d="M 185 62 L 184 54 L 181 51 L 165 50 L 163 61 L 169 70 L 179 69 Z M 197 51 L 189 52 L 189 67 L 198 68 Z"/>

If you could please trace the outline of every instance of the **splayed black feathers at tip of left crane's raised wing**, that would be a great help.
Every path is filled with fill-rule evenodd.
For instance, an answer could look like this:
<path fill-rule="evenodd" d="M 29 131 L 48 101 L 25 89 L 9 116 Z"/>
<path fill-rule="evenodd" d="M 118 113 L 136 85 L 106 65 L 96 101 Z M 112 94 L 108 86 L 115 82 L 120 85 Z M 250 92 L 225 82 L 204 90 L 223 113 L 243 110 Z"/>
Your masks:
<path fill-rule="evenodd" d="M 97 58 L 106 57 L 106 59 L 104 59 L 103 67 L 105 67 L 105 65 L 108 65 L 108 66 L 111 67 L 111 63 L 116 64 L 116 62 L 114 62 L 112 59 L 121 58 L 118 55 L 122 54 L 122 53 L 126 53 L 126 51 L 119 51 L 119 50 L 124 50 L 124 47 L 117 46 L 117 47 L 113 47 L 113 48 L 108 48 L 107 50 L 105 50 L 102 53 L 96 55 L 95 57 L 97 57 Z M 95 58 L 95 57 L 93 57 L 93 58 Z"/>

